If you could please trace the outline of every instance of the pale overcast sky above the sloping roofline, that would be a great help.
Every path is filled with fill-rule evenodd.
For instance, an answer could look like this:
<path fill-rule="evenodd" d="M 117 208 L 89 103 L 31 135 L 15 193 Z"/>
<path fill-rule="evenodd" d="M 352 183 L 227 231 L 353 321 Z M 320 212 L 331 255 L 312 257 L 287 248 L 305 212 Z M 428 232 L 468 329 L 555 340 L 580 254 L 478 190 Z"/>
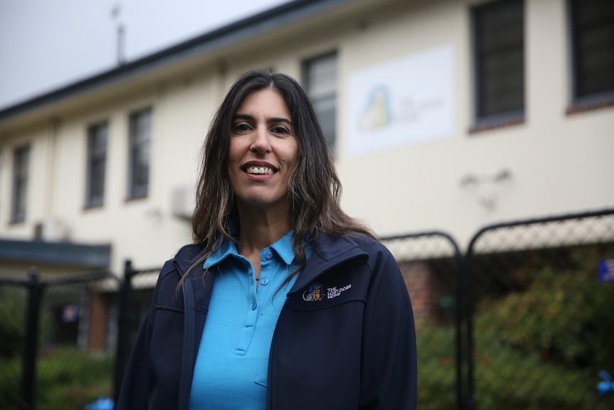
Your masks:
<path fill-rule="evenodd" d="M 0 110 L 288 0 L 0 0 Z M 119 4 L 120 14 L 111 11 Z"/>

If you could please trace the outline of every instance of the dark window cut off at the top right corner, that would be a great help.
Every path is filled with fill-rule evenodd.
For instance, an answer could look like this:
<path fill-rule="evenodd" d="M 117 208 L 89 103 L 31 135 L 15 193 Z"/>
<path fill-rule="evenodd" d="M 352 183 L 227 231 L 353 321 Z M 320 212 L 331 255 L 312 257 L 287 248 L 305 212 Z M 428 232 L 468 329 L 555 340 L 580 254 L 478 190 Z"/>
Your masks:
<path fill-rule="evenodd" d="M 614 101 L 614 1 L 571 0 L 575 103 Z"/>

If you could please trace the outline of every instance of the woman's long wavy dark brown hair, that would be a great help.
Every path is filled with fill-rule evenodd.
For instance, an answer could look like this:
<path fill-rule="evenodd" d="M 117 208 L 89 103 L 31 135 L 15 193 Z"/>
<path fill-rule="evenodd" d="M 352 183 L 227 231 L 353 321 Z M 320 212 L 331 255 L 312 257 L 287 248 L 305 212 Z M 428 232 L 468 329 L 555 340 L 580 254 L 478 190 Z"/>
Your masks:
<path fill-rule="evenodd" d="M 342 189 L 333 155 L 303 88 L 286 74 L 250 71 L 230 88 L 203 145 L 192 230 L 194 242 L 202 243 L 207 251 L 189 271 L 202 265 L 224 240 L 237 240 L 229 230 L 231 221 L 237 217 L 236 201 L 227 175 L 231 125 L 246 96 L 263 89 L 280 93 L 286 101 L 298 143 L 298 158 L 288 182 L 288 195 L 292 203 L 292 246 L 299 268 L 288 280 L 305 265 L 306 237 L 313 239 L 325 232 L 330 235 L 363 234 L 377 240 L 372 230 L 340 208 Z"/>

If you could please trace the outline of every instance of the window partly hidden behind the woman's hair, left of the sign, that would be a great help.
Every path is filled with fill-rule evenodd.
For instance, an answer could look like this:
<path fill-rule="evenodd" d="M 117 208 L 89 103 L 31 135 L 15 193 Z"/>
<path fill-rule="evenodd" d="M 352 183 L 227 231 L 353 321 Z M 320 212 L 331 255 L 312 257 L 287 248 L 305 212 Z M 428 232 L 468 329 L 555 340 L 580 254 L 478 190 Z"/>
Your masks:
<path fill-rule="evenodd" d="M 337 53 L 311 58 L 303 64 L 305 91 L 313 104 L 324 135 L 335 148 L 337 123 Z"/>

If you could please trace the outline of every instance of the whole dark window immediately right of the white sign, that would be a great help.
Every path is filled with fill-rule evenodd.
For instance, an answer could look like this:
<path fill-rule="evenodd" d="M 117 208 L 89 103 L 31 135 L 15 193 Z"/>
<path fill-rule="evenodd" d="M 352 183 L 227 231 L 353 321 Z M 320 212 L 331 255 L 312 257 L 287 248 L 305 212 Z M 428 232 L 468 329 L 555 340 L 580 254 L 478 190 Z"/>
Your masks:
<path fill-rule="evenodd" d="M 493 1 L 473 9 L 477 125 L 524 119 L 524 6 Z"/>

